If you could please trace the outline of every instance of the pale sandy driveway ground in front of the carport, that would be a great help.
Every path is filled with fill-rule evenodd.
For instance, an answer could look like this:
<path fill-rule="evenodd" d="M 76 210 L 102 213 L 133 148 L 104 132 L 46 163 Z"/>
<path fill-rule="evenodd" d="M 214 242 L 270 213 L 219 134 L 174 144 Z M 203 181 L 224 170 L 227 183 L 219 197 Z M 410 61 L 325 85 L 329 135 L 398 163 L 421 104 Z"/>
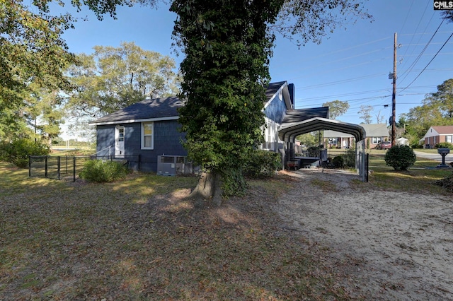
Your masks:
<path fill-rule="evenodd" d="M 326 245 L 331 264 L 366 300 L 453 300 L 453 201 L 394 191 L 363 193 L 357 175 L 291 172 L 297 188 L 280 199 L 284 228 Z M 312 179 L 336 183 L 324 192 Z M 352 266 L 352 268 L 351 268 Z M 346 271 L 342 271 L 346 269 Z M 349 283 L 348 285 L 351 285 Z"/>

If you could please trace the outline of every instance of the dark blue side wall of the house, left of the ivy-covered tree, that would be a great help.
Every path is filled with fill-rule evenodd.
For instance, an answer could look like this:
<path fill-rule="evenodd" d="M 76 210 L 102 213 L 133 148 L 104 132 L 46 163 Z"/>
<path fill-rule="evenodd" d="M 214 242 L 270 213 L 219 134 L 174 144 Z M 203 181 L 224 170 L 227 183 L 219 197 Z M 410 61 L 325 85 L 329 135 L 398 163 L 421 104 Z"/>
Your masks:
<path fill-rule="evenodd" d="M 97 126 L 98 156 L 109 155 L 109 147 L 112 149 L 110 155 L 114 155 L 115 126 L 116 124 Z M 142 149 L 141 122 L 122 124 L 122 126 L 125 126 L 125 158 L 132 169 L 156 172 L 158 155 L 187 155 L 187 151 L 180 143 L 181 139 L 185 138 L 185 134 L 180 133 L 180 124 L 177 120 L 154 122 L 153 149 Z"/>

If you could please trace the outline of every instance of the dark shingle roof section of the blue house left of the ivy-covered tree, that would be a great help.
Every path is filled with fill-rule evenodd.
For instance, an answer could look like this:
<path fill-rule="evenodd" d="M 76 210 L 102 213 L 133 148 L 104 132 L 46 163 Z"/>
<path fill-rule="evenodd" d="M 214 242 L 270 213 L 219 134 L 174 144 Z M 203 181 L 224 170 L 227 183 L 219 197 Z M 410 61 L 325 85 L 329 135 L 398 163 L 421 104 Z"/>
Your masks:
<path fill-rule="evenodd" d="M 108 114 L 97 119 L 92 124 L 105 122 L 125 122 L 130 120 L 154 119 L 164 117 L 178 117 L 178 107 L 182 107 L 183 102 L 179 98 L 154 98 L 142 100 L 134 103 L 122 110 Z"/>

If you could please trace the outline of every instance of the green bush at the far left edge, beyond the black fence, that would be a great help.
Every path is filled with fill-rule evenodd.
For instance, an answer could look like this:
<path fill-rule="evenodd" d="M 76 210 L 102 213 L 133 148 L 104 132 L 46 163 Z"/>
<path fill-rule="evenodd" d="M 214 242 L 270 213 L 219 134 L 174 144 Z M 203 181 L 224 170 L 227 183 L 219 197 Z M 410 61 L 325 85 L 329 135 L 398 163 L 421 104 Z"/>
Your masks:
<path fill-rule="evenodd" d="M 50 148 L 41 141 L 33 141 L 27 138 L 0 143 L 0 159 L 13 163 L 17 167 L 28 167 L 29 155 L 49 155 Z"/>

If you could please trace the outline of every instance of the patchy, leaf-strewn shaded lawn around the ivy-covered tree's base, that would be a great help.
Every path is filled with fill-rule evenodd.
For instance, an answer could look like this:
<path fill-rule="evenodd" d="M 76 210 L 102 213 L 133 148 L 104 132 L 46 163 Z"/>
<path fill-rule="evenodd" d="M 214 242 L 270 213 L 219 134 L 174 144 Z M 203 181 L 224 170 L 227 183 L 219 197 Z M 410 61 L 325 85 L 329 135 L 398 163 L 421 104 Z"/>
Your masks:
<path fill-rule="evenodd" d="M 284 175 L 219 207 L 185 198 L 195 177 L 91 184 L 0 163 L 0 181 L 0 300 L 350 300 L 323 249 L 278 225 Z"/>

